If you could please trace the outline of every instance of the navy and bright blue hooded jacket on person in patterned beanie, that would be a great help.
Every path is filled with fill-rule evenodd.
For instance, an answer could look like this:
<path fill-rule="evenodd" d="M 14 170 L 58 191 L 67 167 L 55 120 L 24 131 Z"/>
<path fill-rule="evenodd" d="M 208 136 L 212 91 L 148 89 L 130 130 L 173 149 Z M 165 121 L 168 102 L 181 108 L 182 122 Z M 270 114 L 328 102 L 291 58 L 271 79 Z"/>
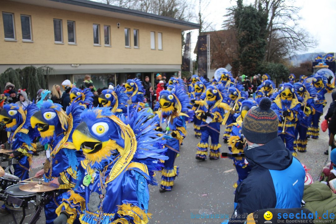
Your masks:
<path fill-rule="evenodd" d="M 244 152 L 251 172 L 237 187 L 230 222 L 261 209 L 300 208 L 305 171 L 281 138 Z"/>

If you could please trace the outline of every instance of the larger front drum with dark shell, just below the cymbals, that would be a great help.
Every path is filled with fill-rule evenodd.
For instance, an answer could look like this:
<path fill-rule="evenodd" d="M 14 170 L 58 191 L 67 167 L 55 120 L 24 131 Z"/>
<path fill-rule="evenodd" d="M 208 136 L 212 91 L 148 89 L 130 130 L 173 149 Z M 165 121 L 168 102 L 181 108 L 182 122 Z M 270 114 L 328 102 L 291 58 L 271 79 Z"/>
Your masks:
<path fill-rule="evenodd" d="M 5 205 L 8 209 L 22 210 L 29 207 L 30 204 L 32 207 L 35 206 L 36 193 L 20 190 L 19 187 L 22 184 L 26 183 L 14 184 L 6 188 L 7 199 Z"/>

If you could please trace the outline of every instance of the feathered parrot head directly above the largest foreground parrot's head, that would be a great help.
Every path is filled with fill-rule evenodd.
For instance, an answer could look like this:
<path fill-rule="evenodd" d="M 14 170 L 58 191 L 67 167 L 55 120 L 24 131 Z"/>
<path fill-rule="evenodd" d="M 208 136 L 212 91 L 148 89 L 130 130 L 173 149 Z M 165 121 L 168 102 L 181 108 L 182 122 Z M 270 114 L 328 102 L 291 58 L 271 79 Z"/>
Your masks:
<path fill-rule="evenodd" d="M 125 90 L 125 87 L 119 85 L 114 89 L 104 89 L 98 98 L 98 102 L 103 107 L 110 107 L 112 113 L 126 112 L 128 96 Z"/>

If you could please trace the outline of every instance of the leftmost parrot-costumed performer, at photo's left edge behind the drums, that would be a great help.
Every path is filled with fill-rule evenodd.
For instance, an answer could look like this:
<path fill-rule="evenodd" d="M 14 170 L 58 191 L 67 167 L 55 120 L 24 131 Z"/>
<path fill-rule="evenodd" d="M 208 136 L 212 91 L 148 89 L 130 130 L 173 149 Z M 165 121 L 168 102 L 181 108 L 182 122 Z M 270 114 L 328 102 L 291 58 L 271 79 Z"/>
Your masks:
<path fill-rule="evenodd" d="M 8 142 L 5 144 L 13 150 L 18 164 L 13 164 L 14 175 L 21 180 L 29 178 L 29 169 L 32 164 L 32 156 L 36 151 L 36 138 L 39 133 L 30 124 L 30 119 L 38 110 L 32 103 L 26 107 L 17 104 L 5 104 L 0 113 L 0 121 L 4 122 L 8 133 Z"/>

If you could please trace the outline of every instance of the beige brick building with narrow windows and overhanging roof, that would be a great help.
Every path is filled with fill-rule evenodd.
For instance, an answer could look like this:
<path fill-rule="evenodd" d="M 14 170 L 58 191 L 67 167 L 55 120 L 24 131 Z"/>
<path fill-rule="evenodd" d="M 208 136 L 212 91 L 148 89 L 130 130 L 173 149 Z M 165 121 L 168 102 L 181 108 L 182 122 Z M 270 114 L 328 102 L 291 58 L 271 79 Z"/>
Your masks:
<path fill-rule="evenodd" d="M 50 66 L 49 89 L 65 79 L 94 85 L 181 70 L 181 31 L 199 25 L 87 0 L 1 0 L 0 74 Z M 1 40 L 2 38 L 2 40 Z"/>

